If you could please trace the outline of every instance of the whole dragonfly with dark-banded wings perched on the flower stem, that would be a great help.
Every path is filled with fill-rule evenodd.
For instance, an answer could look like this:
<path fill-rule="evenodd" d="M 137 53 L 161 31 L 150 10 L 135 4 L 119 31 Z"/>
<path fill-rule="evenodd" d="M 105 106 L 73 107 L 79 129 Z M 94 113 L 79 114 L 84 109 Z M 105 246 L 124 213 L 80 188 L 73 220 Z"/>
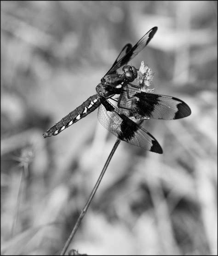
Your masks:
<path fill-rule="evenodd" d="M 134 46 L 126 44 L 97 85 L 97 93 L 55 123 L 43 137 L 59 134 L 98 108 L 98 120 L 110 133 L 131 145 L 161 154 L 161 145 L 142 127 L 143 120 L 184 118 L 191 114 L 191 110 L 181 99 L 144 92 L 141 85 L 132 84 L 138 70 L 127 64 L 148 45 L 156 31 L 157 27 L 150 29 Z M 117 70 L 121 67 L 123 73 L 119 74 Z M 125 99 L 131 104 L 126 105 Z"/>

